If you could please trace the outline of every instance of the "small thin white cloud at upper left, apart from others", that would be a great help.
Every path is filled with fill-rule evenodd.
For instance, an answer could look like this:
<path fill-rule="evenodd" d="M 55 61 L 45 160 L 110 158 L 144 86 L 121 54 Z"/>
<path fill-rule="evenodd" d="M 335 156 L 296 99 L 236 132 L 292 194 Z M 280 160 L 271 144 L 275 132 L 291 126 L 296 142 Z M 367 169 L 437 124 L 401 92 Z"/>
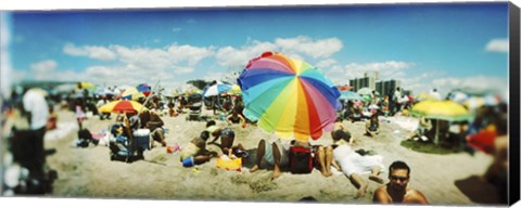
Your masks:
<path fill-rule="evenodd" d="M 97 46 L 85 46 L 85 47 L 78 48 L 73 43 L 66 43 L 63 47 L 63 52 L 68 55 L 87 56 L 93 60 L 102 60 L 102 61 L 110 61 L 110 60 L 116 58 L 116 54 L 113 51 L 104 47 L 97 47 Z"/>

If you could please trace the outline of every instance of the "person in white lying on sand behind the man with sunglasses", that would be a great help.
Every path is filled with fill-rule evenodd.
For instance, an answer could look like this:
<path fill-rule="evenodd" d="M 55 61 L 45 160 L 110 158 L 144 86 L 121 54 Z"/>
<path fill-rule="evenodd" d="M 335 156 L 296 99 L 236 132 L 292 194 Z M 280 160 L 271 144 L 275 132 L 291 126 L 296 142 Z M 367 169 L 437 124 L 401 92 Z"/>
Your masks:
<path fill-rule="evenodd" d="M 370 172 L 369 180 L 377 183 L 383 183 L 383 179 L 378 177 L 380 170 L 383 168 L 382 157 L 374 156 L 361 156 L 354 152 L 350 145 L 333 145 L 333 158 L 340 165 L 340 169 L 351 182 L 358 188 L 356 197 L 364 197 L 368 183 L 364 181 L 360 174 Z M 336 165 L 333 165 L 336 167 Z"/>

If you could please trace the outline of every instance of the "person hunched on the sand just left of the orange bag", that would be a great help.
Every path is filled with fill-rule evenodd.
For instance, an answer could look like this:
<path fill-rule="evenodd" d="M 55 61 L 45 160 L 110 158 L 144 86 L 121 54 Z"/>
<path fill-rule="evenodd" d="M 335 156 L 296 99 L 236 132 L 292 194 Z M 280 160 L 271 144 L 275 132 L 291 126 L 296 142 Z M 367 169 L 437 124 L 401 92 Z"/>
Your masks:
<path fill-rule="evenodd" d="M 201 165 L 206 161 L 209 161 L 212 157 L 217 157 L 217 153 L 209 152 L 206 150 L 206 140 L 209 138 L 208 131 L 201 132 L 199 138 L 193 139 L 190 143 L 187 144 L 186 147 L 182 148 L 180 152 L 180 159 L 181 162 L 190 159 L 193 159 L 193 165 Z"/>

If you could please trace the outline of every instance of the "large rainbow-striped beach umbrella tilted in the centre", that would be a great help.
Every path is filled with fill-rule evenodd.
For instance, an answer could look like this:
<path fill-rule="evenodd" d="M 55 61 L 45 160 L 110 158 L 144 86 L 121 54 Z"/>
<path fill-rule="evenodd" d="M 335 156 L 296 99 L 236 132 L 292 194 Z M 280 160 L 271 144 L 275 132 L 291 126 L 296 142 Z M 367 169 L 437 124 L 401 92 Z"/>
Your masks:
<path fill-rule="evenodd" d="M 251 60 L 238 83 L 244 116 L 281 139 L 317 140 L 341 108 L 339 90 L 321 70 L 281 53 Z"/>

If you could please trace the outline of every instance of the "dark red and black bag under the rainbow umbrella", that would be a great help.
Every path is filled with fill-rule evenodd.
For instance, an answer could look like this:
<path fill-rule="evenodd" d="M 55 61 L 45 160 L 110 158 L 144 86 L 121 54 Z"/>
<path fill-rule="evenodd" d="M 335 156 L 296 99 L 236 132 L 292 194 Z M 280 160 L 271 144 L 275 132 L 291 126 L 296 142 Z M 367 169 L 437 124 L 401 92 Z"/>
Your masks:
<path fill-rule="evenodd" d="M 312 150 L 302 146 L 291 146 L 289 156 L 291 173 L 303 174 L 312 172 Z"/>

